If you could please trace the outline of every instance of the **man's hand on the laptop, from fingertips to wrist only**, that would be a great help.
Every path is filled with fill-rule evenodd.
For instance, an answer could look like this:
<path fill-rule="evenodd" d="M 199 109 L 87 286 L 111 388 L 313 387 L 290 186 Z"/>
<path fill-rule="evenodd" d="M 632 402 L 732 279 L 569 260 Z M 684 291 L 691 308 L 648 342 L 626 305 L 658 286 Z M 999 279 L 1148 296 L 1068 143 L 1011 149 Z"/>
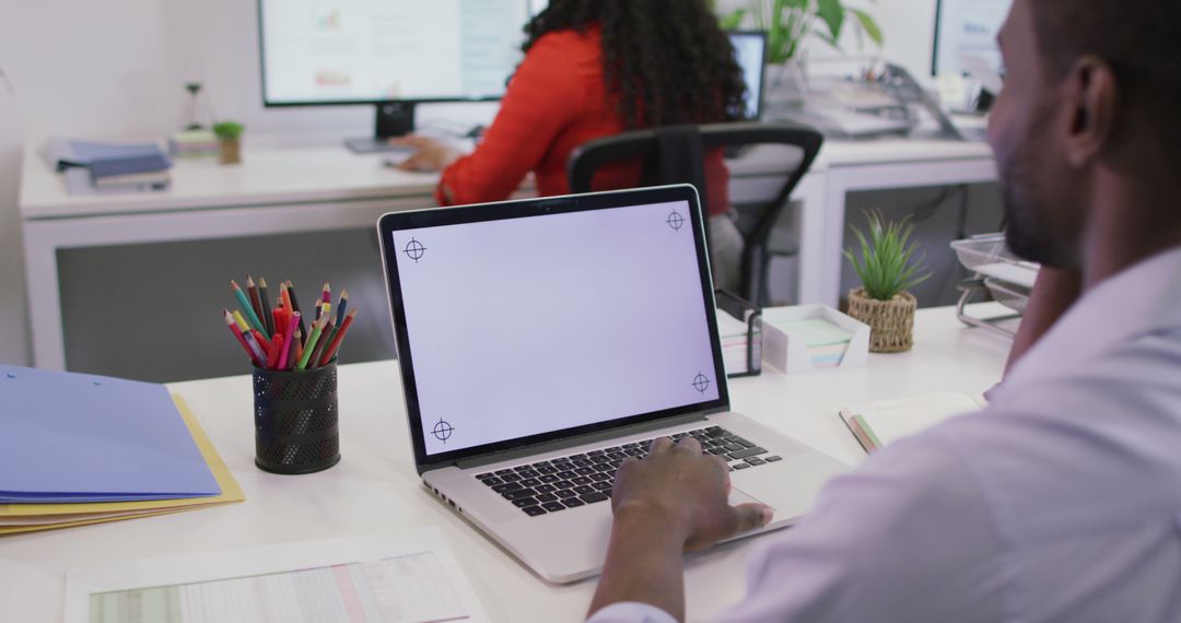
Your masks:
<path fill-rule="evenodd" d="M 612 492 L 616 519 L 651 522 L 681 536 L 685 550 L 697 551 L 771 520 L 762 504 L 730 506 L 730 470 L 725 460 L 702 454 L 702 444 L 687 437 L 673 445 L 653 441 L 644 460 L 629 458 L 619 467 Z"/>

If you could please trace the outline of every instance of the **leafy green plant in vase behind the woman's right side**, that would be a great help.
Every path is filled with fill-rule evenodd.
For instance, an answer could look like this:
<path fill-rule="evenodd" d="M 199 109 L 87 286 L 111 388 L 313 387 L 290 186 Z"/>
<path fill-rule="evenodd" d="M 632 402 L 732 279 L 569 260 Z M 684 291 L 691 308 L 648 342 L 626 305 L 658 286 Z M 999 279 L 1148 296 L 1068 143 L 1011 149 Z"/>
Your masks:
<path fill-rule="evenodd" d="M 801 104 L 807 93 L 801 59 L 804 40 L 815 37 L 841 51 L 841 33 L 850 21 L 857 28 L 859 41 L 868 37 L 882 45 L 882 31 L 874 18 L 842 0 L 751 0 L 723 17 L 722 27 L 750 24 L 766 32 L 769 94 L 784 104 Z"/>

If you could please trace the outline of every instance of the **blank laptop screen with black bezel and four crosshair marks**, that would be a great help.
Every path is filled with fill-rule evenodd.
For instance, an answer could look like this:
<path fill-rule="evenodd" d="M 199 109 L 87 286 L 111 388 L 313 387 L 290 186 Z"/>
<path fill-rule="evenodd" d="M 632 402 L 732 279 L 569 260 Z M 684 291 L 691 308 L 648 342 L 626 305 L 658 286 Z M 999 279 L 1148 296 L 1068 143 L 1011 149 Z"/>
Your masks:
<path fill-rule="evenodd" d="M 727 402 L 691 186 L 380 229 L 420 464 Z"/>

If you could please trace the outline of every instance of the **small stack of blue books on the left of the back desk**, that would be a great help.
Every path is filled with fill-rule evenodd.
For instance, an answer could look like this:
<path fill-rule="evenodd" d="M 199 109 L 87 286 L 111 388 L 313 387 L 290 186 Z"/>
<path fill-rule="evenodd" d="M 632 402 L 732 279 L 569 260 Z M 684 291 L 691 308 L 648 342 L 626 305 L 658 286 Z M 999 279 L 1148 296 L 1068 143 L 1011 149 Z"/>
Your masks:
<path fill-rule="evenodd" d="M 155 143 L 51 140 L 48 157 L 66 176 L 71 194 L 89 190 L 162 190 L 171 183 L 172 160 Z M 89 188 L 87 188 L 89 186 Z"/>

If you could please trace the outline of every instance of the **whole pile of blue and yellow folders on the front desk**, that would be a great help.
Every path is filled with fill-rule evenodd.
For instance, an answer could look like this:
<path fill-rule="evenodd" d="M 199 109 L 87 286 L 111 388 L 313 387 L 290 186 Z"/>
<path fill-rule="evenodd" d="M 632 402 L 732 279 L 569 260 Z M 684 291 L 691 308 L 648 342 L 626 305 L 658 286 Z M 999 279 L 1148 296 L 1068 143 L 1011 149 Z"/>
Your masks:
<path fill-rule="evenodd" d="M 0 536 L 244 499 L 162 385 L 0 365 Z"/>

